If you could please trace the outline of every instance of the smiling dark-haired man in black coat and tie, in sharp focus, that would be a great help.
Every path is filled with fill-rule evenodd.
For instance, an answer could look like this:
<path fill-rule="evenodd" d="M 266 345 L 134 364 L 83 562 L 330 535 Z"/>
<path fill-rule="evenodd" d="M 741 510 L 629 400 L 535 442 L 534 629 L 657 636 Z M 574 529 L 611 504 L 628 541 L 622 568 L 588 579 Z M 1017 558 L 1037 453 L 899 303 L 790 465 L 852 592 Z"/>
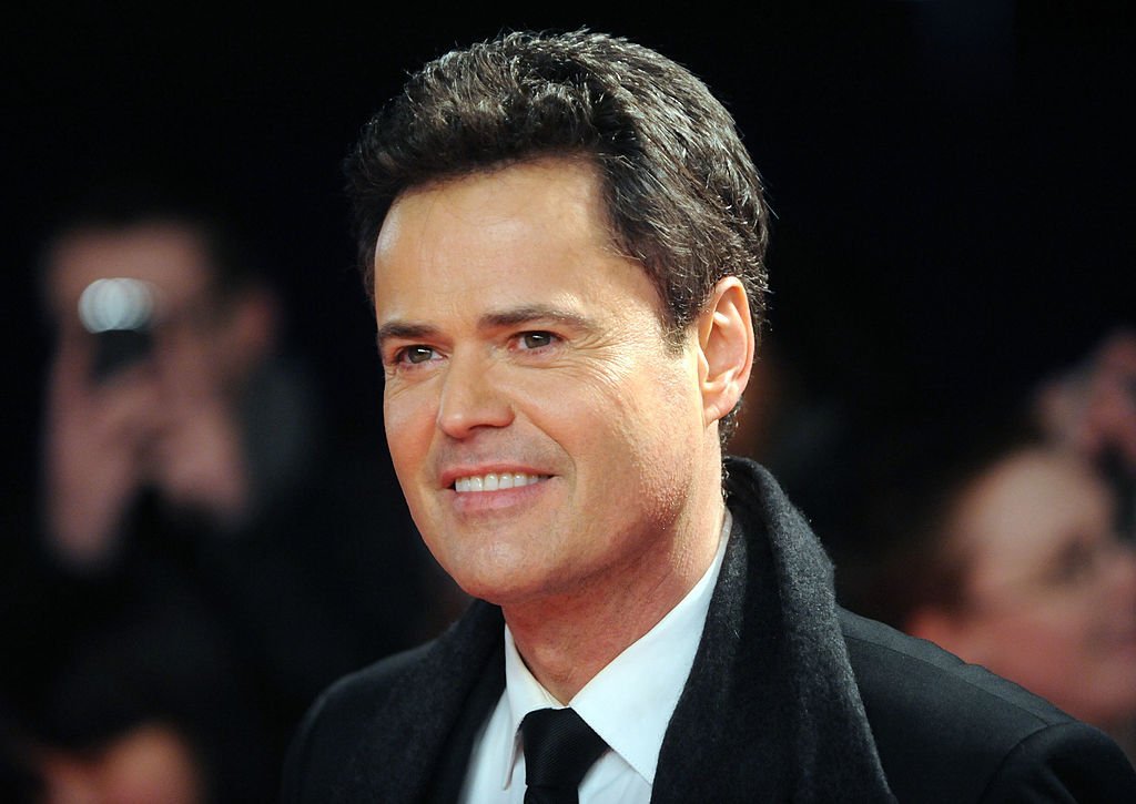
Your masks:
<path fill-rule="evenodd" d="M 722 463 L 767 211 L 694 76 L 510 34 L 415 75 L 348 173 L 399 480 L 479 601 L 324 695 L 285 801 L 1136 794 L 1100 732 L 840 611 L 774 480 Z"/>

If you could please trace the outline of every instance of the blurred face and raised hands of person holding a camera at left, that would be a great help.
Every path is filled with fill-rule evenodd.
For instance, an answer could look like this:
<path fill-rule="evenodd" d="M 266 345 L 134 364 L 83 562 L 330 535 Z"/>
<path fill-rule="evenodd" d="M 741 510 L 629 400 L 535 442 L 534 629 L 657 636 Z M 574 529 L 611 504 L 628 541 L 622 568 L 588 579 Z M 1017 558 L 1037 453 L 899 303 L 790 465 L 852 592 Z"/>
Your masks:
<path fill-rule="evenodd" d="M 275 492 L 274 475 L 295 474 L 294 459 L 264 471 L 258 455 L 267 477 L 254 488 L 240 421 L 242 396 L 275 349 L 272 294 L 207 220 L 150 209 L 144 198 L 116 203 L 132 208 L 100 201 L 66 225 L 43 271 L 57 334 L 44 533 L 61 562 L 84 571 L 128 546 L 142 489 L 164 509 L 233 530 Z M 116 328 L 114 311 L 131 302 L 137 326 Z M 282 443 L 302 449 L 303 429 L 286 424 Z"/>

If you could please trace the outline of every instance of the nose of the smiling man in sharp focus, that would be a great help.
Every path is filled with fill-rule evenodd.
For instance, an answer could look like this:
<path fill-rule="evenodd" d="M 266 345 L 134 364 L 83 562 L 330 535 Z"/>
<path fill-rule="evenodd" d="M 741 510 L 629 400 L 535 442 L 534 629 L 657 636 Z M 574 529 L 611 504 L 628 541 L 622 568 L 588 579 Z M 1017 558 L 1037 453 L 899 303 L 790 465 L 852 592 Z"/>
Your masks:
<path fill-rule="evenodd" d="M 453 354 L 442 380 L 437 427 L 451 438 L 468 438 L 482 428 L 508 427 L 512 404 L 491 361 Z"/>

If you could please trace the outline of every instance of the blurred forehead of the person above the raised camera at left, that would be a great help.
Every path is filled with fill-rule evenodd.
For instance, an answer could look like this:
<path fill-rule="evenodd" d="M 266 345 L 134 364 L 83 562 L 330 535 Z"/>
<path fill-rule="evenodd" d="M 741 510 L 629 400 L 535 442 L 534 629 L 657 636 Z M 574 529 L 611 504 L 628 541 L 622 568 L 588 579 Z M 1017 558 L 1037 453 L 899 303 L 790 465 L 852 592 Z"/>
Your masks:
<path fill-rule="evenodd" d="M 201 236 L 176 223 L 74 229 L 51 248 L 48 270 L 56 315 L 73 309 L 95 279 L 143 279 L 174 303 L 204 292 L 211 279 Z"/>

